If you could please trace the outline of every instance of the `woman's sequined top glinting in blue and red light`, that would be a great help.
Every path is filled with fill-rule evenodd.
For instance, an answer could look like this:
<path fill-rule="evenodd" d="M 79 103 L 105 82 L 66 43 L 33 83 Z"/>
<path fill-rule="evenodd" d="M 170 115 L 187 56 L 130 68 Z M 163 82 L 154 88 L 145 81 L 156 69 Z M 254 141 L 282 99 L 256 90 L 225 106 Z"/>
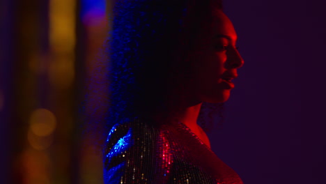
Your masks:
<path fill-rule="evenodd" d="M 114 125 L 104 149 L 104 183 L 242 184 L 186 125 L 139 118 Z"/>

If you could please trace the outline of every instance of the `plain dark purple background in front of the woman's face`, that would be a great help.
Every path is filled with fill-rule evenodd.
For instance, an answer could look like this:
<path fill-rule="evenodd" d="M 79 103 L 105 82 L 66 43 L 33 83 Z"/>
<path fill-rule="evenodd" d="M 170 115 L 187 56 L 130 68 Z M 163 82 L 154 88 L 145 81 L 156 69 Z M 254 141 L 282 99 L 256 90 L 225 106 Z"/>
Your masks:
<path fill-rule="evenodd" d="M 247 184 L 326 183 L 326 1 L 225 0 L 244 66 L 212 149 Z"/>

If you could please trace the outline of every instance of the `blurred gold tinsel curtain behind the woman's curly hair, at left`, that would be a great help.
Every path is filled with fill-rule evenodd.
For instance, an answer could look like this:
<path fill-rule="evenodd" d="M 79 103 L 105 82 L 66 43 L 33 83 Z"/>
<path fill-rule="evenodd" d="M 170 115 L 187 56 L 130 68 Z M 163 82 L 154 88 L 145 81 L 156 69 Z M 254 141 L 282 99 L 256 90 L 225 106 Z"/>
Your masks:
<path fill-rule="evenodd" d="M 1 183 L 102 183 L 109 3 L 0 5 Z"/>

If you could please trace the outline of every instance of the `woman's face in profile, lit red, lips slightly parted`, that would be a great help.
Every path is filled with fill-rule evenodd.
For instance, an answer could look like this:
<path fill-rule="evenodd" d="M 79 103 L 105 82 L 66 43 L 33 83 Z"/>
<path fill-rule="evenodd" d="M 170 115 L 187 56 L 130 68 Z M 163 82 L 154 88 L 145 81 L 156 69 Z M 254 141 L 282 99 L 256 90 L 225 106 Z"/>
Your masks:
<path fill-rule="evenodd" d="M 234 88 L 232 79 L 243 65 L 236 48 L 237 34 L 222 10 L 213 10 L 209 30 L 201 33 L 191 59 L 194 61 L 194 91 L 203 102 L 225 102 Z"/>

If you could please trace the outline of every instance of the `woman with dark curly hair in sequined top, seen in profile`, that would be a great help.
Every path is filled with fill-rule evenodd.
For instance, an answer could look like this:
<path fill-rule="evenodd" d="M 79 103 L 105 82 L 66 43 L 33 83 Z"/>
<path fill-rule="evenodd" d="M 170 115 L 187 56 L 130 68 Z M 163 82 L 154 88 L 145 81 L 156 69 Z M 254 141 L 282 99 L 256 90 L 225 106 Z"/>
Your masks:
<path fill-rule="evenodd" d="M 243 65 L 218 0 L 118 0 L 104 183 L 242 183 L 196 123 Z"/>

